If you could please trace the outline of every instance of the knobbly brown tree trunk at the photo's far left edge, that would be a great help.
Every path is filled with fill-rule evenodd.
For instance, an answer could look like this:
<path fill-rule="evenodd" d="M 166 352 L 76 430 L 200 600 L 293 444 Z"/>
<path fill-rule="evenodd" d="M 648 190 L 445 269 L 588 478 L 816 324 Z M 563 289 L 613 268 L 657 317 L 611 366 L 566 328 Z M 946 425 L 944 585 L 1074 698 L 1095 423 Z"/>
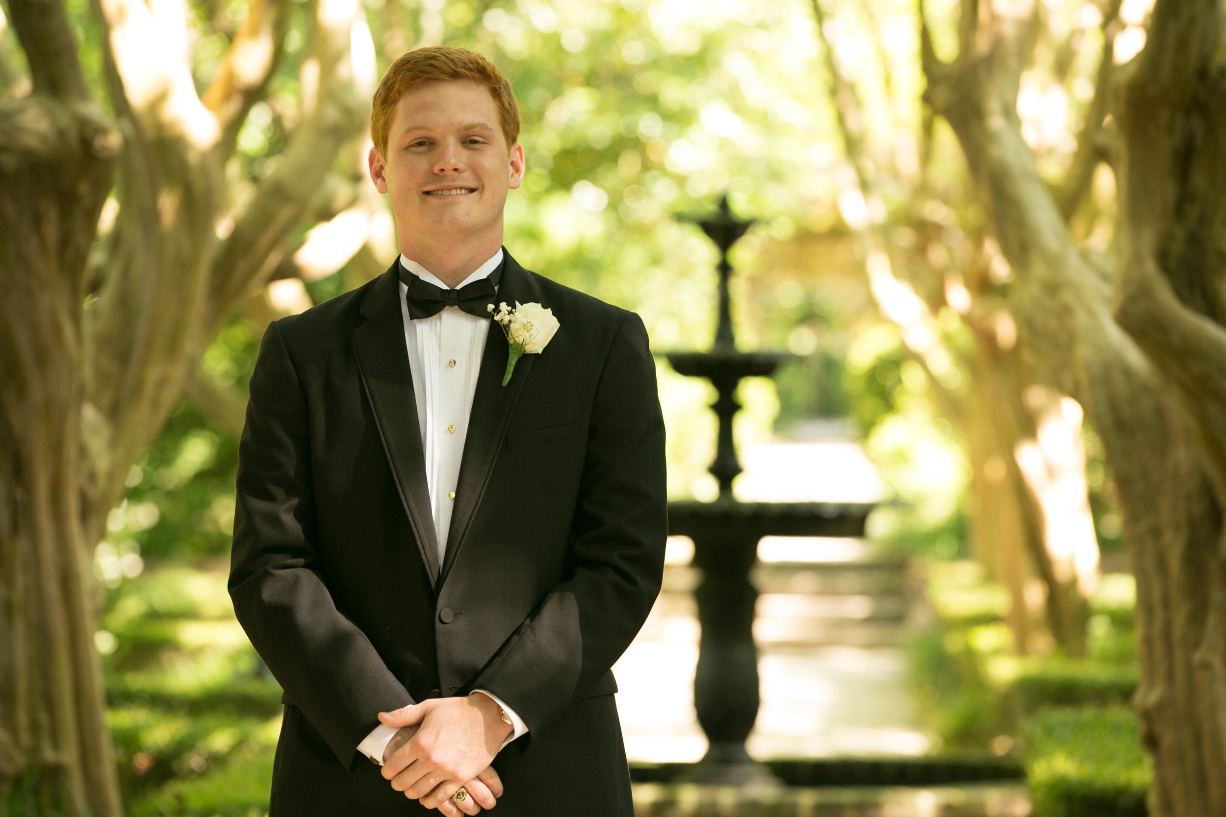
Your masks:
<path fill-rule="evenodd" d="M 50 97 L 0 137 L 0 813 L 120 813 L 81 523 L 81 304 L 118 135 Z M 40 141 L 40 145 L 36 143 Z"/>

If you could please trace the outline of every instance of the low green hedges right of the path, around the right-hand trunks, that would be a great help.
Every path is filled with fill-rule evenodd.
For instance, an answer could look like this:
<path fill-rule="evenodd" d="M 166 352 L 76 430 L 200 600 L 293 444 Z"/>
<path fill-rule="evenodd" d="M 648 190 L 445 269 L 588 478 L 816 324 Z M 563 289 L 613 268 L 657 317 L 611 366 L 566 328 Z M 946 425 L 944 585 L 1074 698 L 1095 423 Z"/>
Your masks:
<path fill-rule="evenodd" d="M 1080 661 L 1010 655 L 1008 594 L 978 565 L 929 565 L 926 595 L 938 619 L 912 643 L 910 666 L 943 745 L 1020 746 L 1035 817 L 1144 817 L 1152 774 L 1124 706 L 1138 680 L 1132 577 L 1103 577 Z"/>

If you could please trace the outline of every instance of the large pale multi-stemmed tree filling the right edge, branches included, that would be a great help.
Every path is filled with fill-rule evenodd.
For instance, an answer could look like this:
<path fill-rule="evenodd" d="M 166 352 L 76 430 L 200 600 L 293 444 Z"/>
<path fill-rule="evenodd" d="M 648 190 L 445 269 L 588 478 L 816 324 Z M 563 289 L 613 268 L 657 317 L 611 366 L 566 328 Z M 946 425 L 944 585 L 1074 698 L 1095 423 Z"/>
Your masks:
<path fill-rule="evenodd" d="M 1063 185 L 1040 175 L 1016 113 L 1035 5 L 965 0 L 950 62 L 924 26 L 926 98 L 958 135 L 1016 276 L 1009 303 L 1032 371 L 1086 408 L 1118 488 L 1138 585 L 1150 813 L 1210 817 L 1226 813 L 1224 10 L 1157 0 L 1144 49 L 1112 67 L 1117 10 L 1103 28 L 1101 98 Z M 1092 174 L 1079 162 L 1102 159 L 1119 191 L 1108 271 L 1067 227 Z"/>

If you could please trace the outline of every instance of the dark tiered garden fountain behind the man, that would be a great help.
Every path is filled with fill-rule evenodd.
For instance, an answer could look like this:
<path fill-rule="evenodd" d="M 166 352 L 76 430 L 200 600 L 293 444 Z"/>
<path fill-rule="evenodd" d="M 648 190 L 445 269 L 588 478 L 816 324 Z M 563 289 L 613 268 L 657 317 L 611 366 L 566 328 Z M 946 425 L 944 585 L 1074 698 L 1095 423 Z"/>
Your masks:
<path fill-rule="evenodd" d="M 715 344 L 710 352 L 669 352 L 672 367 L 689 377 L 706 377 L 718 397 L 711 408 L 720 418 L 715 462 L 709 470 L 720 483 L 714 502 L 693 500 L 668 503 L 668 532 L 694 540 L 693 565 L 702 579 L 694 590 L 702 630 L 694 707 L 710 748 L 684 777 L 694 783 L 769 786 L 779 785 L 770 770 L 745 751 L 745 740 L 758 719 L 758 647 L 754 643 L 754 608 L 758 590 L 750 570 L 758 560 L 763 537 L 862 537 L 867 503 L 739 502 L 732 481 L 742 472 L 732 440 L 732 420 L 741 409 L 737 385 L 743 377 L 770 376 L 788 356 L 781 353 L 738 352 L 732 332 L 728 250 L 744 235 L 752 220 L 736 218 L 728 197 L 718 211 L 695 219 L 720 247 L 720 306 Z M 820 468 L 814 463 L 814 468 Z"/>

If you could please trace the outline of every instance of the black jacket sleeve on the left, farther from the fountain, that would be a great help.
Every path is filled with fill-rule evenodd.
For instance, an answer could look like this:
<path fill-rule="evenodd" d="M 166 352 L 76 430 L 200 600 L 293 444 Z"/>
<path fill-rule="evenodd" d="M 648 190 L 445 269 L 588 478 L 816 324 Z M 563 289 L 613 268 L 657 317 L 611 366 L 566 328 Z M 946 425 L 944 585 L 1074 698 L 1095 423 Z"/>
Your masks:
<path fill-rule="evenodd" d="M 316 566 L 306 394 L 273 322 L 239 442 L 229 593 L 260 658 L 352 769 L 378 713 L 413 699 L 336 609 Z"/>

